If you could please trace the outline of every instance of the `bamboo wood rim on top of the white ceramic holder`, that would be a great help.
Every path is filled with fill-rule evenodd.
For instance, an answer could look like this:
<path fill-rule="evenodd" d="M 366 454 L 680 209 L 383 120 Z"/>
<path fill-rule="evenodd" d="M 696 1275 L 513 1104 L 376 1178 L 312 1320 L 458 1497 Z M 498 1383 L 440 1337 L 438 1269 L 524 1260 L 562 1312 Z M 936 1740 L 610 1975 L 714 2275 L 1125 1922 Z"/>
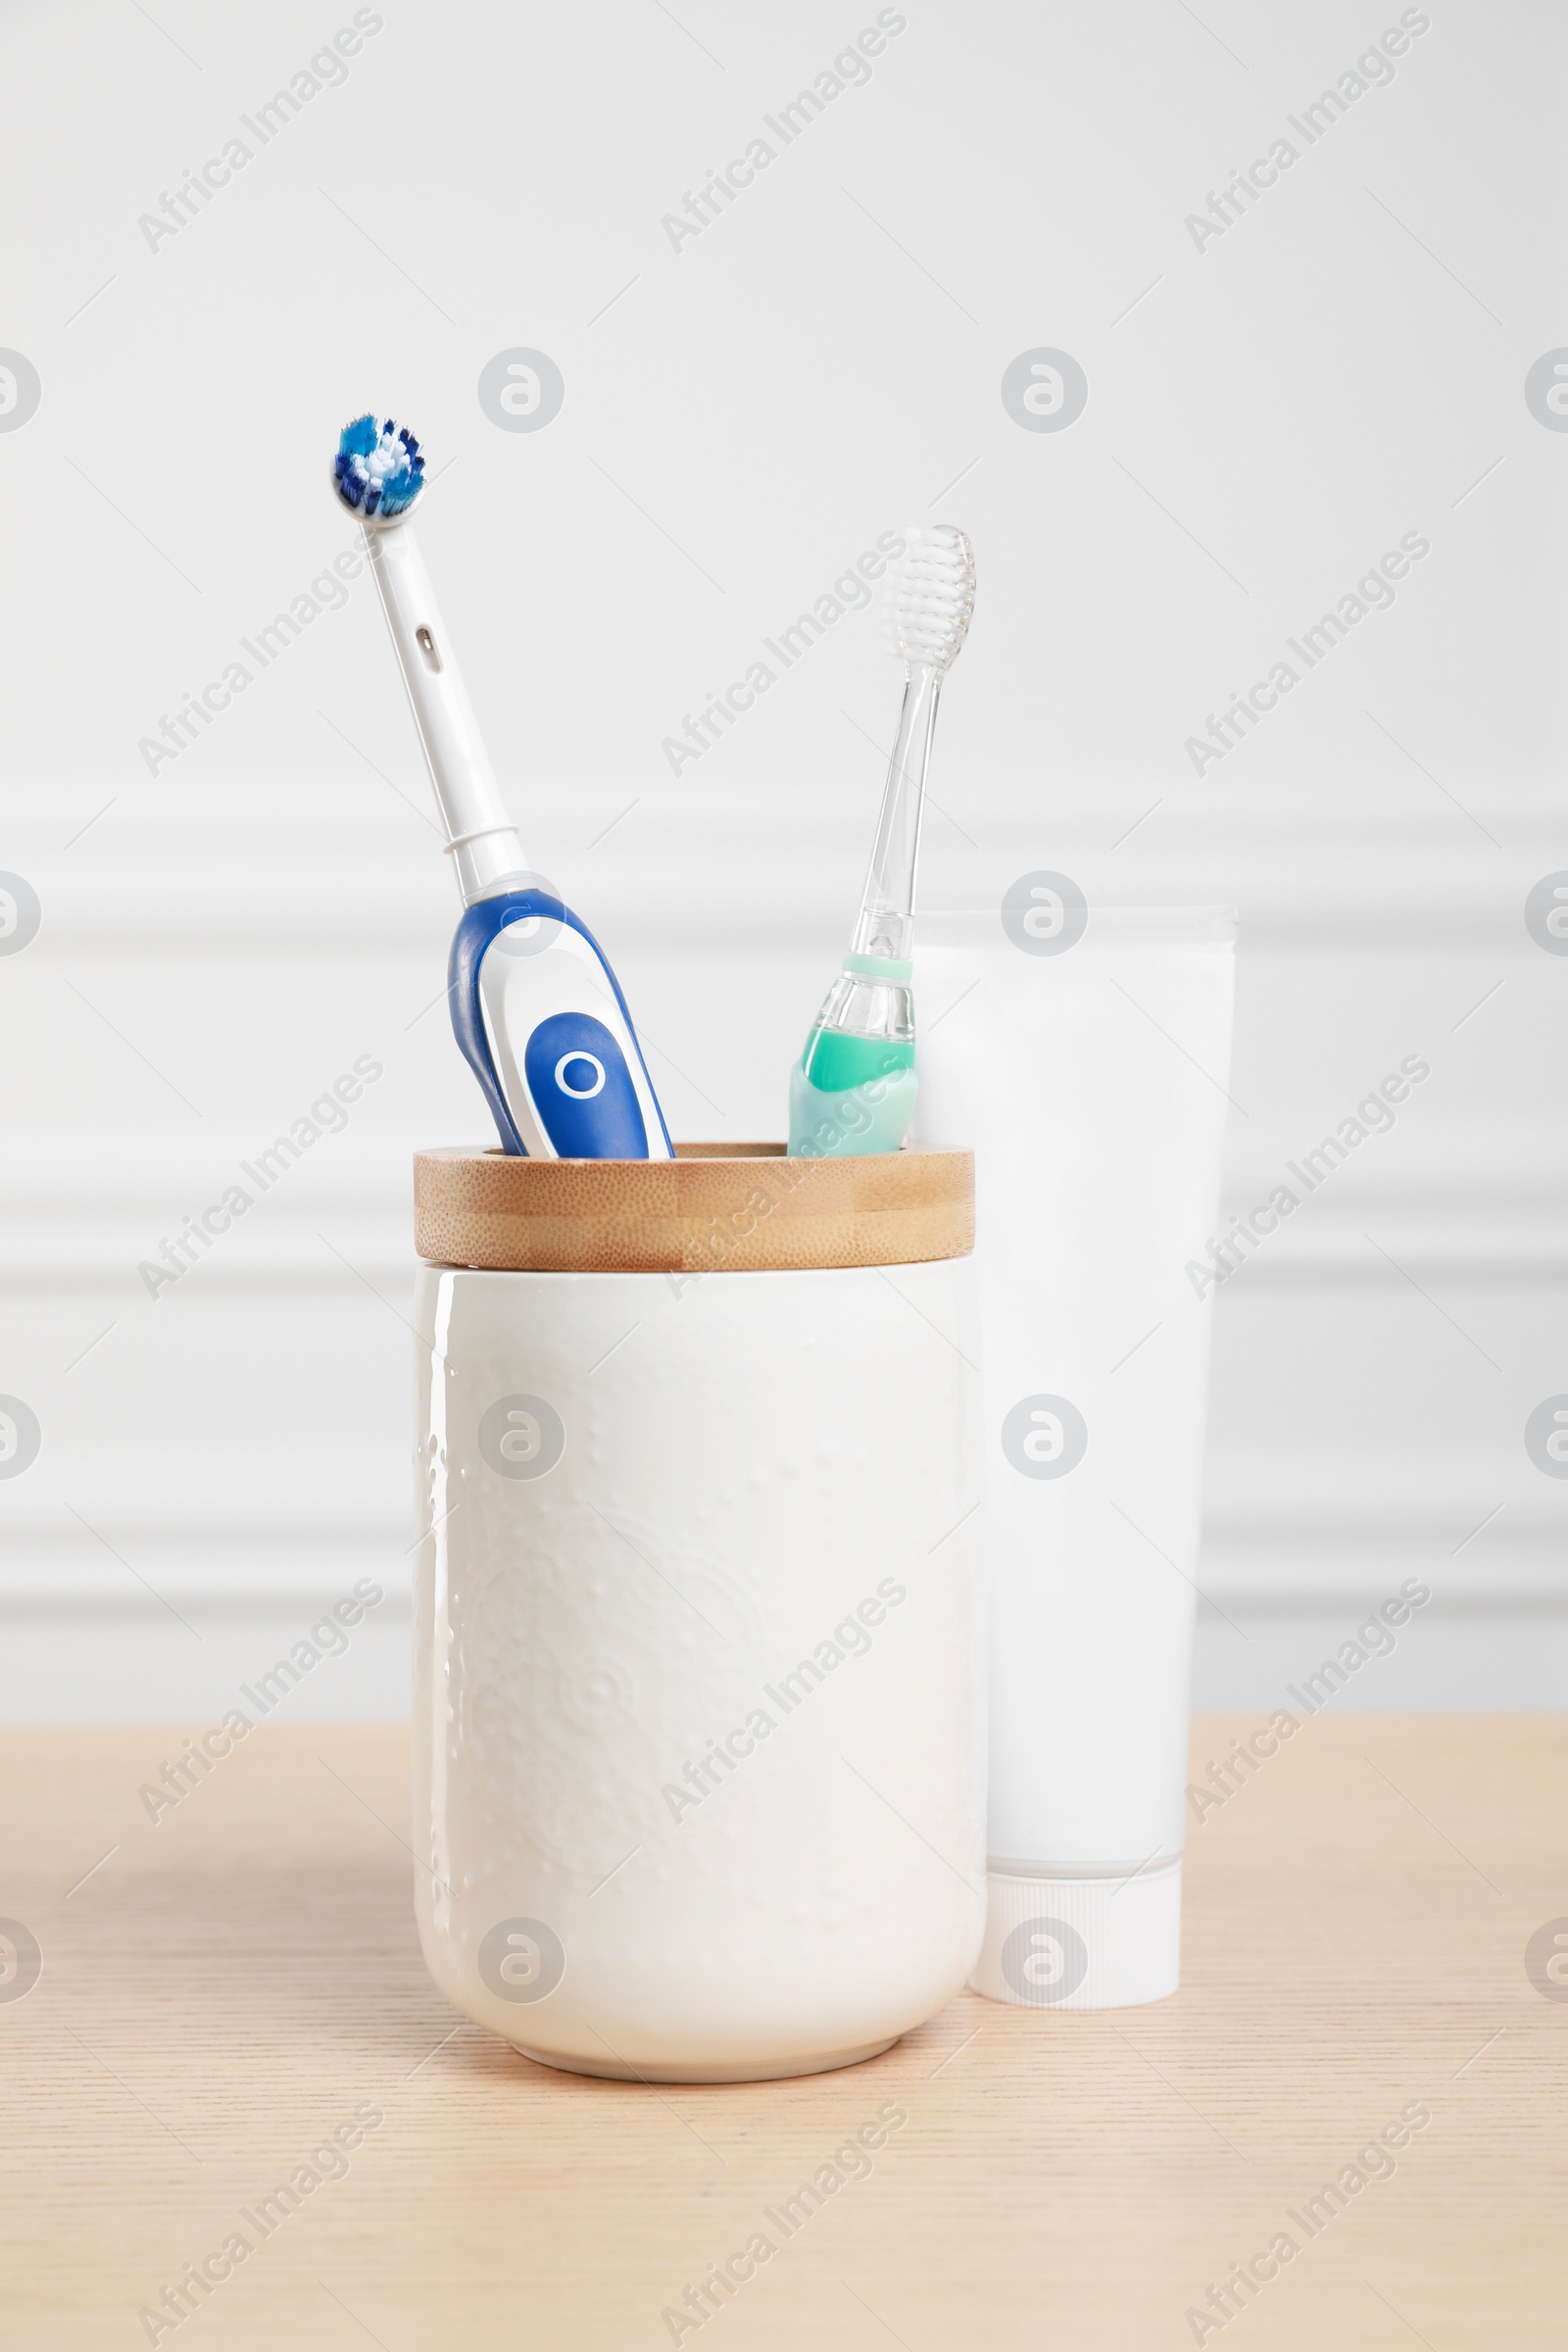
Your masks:
<path fill-rule="evenodd" d="M 976 1247 L 976 1162 L 933 1145 L 863 1160 L 788 1160 L 783 1143 L 677 1143 L 675 1160 L 449 1145 L 414 1155 L 414 1247 L 505 1272 L 919 1265 Z"/>

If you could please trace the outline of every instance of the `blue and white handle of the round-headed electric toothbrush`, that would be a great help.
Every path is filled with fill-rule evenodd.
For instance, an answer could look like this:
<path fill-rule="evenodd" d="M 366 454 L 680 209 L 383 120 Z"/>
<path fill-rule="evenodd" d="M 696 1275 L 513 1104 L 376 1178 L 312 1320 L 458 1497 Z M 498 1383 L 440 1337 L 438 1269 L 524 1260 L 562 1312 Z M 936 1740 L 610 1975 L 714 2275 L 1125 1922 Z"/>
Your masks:
<path fill-rule="evenodd" d="M 621 983 L 559 898 L 515 889 L 470 906 L 451 941 L 447 1000 L 505 1152 L 675 1157 Z"/>

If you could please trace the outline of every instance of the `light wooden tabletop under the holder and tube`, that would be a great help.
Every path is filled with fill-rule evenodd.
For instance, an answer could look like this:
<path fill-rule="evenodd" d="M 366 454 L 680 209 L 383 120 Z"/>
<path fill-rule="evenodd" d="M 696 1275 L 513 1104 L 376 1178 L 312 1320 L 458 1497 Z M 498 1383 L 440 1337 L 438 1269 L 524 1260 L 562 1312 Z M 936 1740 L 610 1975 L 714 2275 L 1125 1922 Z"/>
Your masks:
<path fill-rule="evenodd" d="M 1251 1729 L 1199 1722 L 1194 1778 Z M 1563 1722 L 1305 1724 L 1190 1832 L 1175 1999 L 964 1994 L 870 2065 L 722 2089 L 552 2074 L 454 2018 L 400 1729 L 263 1724 L 153 1823 L 176 1752 L 0 1736 L 0 1915 L 42 1950 L 0 1985 L 7 2352 L 148 2343 L 207 2258 L 230 2274 L 158 2343 L 635 2352 L 757 2232 L 773 2256 L 679 2343 L 1568 2345 L 1568 1999 L 1526 1976 L 1568 1931 Z M 870 2176 L 790 2237 L 764 2218 L 889 2107 Z"/>

